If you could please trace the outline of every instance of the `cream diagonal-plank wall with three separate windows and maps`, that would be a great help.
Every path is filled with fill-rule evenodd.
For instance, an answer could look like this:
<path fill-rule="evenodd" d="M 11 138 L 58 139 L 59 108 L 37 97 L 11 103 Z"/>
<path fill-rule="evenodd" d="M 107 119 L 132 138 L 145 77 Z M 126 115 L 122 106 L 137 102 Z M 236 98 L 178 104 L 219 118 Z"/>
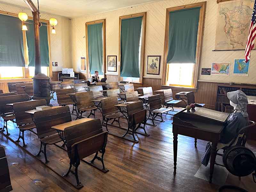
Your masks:
<path fill-rule="evenodd" d="M 107 61 L 108 55 L 117 55 L 118 58 L 119 16 L 147 12 L 145 64 L 147 63 L 148 55 L 161 55 L 161 73 L 159 76 L 145 75 L 144 77 L 161 78 L 163 70 L 162 62 L 164 52 L 166 8 L 180 6 L 184 4 L 193 4 L 202 1 L 204 0 L 164 0 L 155 3 L 143 4 L 134 7 L 72 19 L 71 58 L 74 70 L 80 70 L 80 58 L 86 56 L 85 38 L 83 38 L 85 36 L 85 22 L 106 19 Z M 210 68 L 212 62 L 231 62 L 230 74 L 229 76 L 200 75 L 199 79 L 211 82 L 256 83 L 256 75 L 254 73 L 254 71 L 256 70 L 255 51 L 252 51 L 251 53 L 252 59 L 250 63 L 248 77 L 233 76 L 234 59 L 244 58 L 244 51 L 212 51 L 214 50 L 215 46 L 218 7 L 219 4 L 216 3 L 216 0 L 207 0 L 201 68 Z M 117 72 L 107 72 L 107 74 L 117 75 Z"/>

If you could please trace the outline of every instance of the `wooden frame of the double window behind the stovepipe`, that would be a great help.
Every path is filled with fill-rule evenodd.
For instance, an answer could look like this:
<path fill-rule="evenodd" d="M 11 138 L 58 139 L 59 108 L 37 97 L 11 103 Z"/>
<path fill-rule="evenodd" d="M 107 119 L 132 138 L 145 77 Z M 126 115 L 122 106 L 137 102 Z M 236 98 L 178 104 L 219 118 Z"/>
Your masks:
<path fill-rule="evenodd" d="M 17 18 L 19 17 L 18 14 L 16 14 L 16 13 L 5 12 L 5 11 L 1 11 L 1 10 L 0 10 L 0 14 L 2 14 L 2 15 L 9 15 L 9 16 L 12 16 L 12 17 L 17 17 Z M 28 16 L 28 20 L 33 20 L 33 17 Z M 47 25 L 50 25 L 50 21 L 49 20 L 40 19 L 40 21 L 42 21 L 44 23 L 47 23 Z M 25 58 L 25 65 L 26 65 L 26 64 L 28 64 L 28 52 L 25 49 L 28 47 L 28 45 L 27 45 L 27 38 L 25 38 L 24 33 L 26 34 L 26 32 L 23 31 L 23 45 L 24 45 L 23 47 L 24 47 L 24 58 Z M 51 33 L 50 33 L 50 27 L 49 26 L 47 26 L 47 38 L 48 38 L 48 47 L 49 47 L 49 67 L 47 67 L 47 74 L 48 74 L 49 77 L 52 77 Z M 26 39 L 26 41 L 24 41 L 24 39 Z M 6 79 L 22 79 L 22 78 L 25 79 L 25 78 L 31 78 L 29 76 L 28 68 L 22 67 L 22 69 L 23 69 L 23 77 L 13 77 L 13 78 L 1 78 L 0 77 L 0 80 L 3 80 L 3 79 L 6 80 Z"/>

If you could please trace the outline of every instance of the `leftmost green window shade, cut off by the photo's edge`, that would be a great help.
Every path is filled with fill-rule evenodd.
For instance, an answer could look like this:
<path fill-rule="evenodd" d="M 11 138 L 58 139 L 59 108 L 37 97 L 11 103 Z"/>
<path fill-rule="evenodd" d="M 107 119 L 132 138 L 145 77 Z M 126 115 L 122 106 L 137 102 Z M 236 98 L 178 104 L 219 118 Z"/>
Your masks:
<path fill-rule="evenodd" d="M 25 67 L 21 21 L 1 14 L 0 67 Z"/>

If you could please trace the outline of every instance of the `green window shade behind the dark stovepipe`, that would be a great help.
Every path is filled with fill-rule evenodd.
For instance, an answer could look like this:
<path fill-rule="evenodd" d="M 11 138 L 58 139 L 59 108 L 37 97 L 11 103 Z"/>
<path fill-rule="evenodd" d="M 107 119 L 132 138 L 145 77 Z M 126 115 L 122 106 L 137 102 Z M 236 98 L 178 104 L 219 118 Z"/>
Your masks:
<path fill-rule="evenodd" d="M 33 22 L 28 20 L 28 22 Z M 43 23 L 47 25 L 47 23 Z M 26 31 L 27 43 L 28 43 L 28 59 L 29 67 L 35 66 L 35 34 L 34 34 L 34 24 L 27 24 L 28 31 Z M 41 66 L 49 67 L 49 45 L 48 45 L 48 33 L 47 26 L 41 26 L 39 29 L 40 33 L 40 56 L 41 56 Z"/>

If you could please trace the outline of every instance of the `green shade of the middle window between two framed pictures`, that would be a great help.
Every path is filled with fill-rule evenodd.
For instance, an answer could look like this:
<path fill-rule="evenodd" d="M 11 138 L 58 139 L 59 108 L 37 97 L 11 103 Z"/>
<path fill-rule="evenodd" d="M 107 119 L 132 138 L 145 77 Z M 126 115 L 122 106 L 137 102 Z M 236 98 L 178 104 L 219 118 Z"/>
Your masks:
<path fill-rule="evenodd" d="M 121 23 L 121 77 L 140 77 L 139 52 L 142 17 Z"/>

